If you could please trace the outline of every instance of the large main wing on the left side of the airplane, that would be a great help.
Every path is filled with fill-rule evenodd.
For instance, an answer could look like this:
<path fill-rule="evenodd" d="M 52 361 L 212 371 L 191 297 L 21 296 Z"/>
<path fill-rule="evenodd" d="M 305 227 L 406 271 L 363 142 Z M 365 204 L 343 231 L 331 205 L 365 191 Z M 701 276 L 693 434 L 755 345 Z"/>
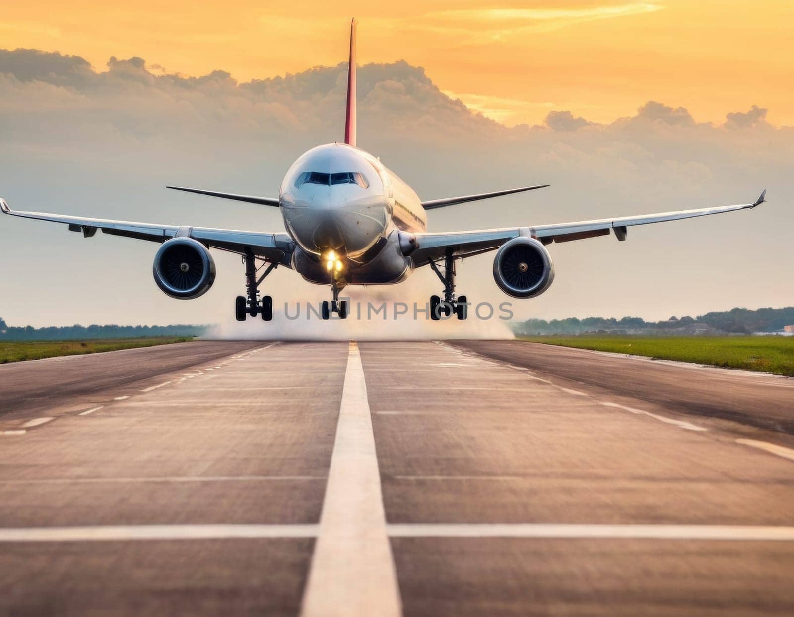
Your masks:
<path fill-rule="evenodd" d="M 88 217 L 67 217 L 60 214 L 40 212 L 19 212 L 10 209 L 6 200 L 0 198 L 0 209 L 4 214 L 27 219 L 49 220 L 69 226 L 71 232 L 83 232 L 83 236 L 94 236 L 97 229 L 113 236 L 125 236 L 138 240 L 151 240 L 163 243 L 175 236 L 194 238 L 206 245 L 223 251 L 245 255 L 251 251 L 253 255 L 268 259 L 281 266 L 290 266 L 292 251 L 295 244 L 286 233 L 241 232 L 233 229 L 214 229 L 206 227 L 188 227 L 180 225 L 160 225 L 151 223 L 133 223 L 127 220 L 94 219 Z"/>

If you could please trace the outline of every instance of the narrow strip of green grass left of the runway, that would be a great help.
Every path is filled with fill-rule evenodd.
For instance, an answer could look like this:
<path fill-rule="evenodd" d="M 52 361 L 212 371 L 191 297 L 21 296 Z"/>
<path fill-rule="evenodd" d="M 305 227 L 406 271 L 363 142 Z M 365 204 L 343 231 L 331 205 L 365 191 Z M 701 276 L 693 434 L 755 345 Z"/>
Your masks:
<path fill-rule="evenodd" d="M 87 341 L 0 341 L 0 364 L 21 360 L 52 358 L 56 355 L 96 354 L 133 347 L 152 347 L 183 343 L 189 336 L 163 336 L 154 339 L 97 339 Z"/>

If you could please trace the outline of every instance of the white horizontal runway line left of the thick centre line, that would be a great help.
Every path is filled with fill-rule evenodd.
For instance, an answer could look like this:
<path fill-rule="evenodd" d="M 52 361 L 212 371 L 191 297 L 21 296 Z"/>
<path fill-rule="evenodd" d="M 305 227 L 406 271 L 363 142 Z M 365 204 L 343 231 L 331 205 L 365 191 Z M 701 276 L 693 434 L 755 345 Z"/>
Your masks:
<path fill-rule="evenodd" d="M 0 529 L 0 542 L 313 538 L 317 525 L 98 525 Z"/>

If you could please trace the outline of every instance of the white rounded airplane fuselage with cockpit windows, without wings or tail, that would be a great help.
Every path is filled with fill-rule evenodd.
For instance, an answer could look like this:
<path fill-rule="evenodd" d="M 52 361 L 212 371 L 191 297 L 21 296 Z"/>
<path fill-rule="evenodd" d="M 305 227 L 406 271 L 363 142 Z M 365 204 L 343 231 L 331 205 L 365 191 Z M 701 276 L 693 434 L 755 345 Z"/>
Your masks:
<path fill-rule="evenodd" d="M 345 283 L 399 282 L 413 269 L 399 253 L 399 232 L 427 228 L 414 190 L 375 156 L 349 144 L 325 144 L 301 155 L 284 177 L 279 204 L 300 249 L 293 265 L 311 282 L 328 282 L 328 255 L 341 260 Z M 384 258 L 388 263 L 380 263 L 379 274 L 370 273 L 368 266 Z"/>

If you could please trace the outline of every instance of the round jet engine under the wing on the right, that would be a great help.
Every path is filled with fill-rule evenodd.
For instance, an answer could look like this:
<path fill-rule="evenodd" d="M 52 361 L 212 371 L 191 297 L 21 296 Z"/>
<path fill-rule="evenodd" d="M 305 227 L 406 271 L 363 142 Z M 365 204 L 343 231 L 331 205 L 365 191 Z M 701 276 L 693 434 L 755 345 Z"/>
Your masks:
<path fill-rule="evenodd" d="M 539 240 L 518 236 L 496 251 L 494 280 L 512 297 L 539 296 L 554 280 L 554 264 Z"/>

